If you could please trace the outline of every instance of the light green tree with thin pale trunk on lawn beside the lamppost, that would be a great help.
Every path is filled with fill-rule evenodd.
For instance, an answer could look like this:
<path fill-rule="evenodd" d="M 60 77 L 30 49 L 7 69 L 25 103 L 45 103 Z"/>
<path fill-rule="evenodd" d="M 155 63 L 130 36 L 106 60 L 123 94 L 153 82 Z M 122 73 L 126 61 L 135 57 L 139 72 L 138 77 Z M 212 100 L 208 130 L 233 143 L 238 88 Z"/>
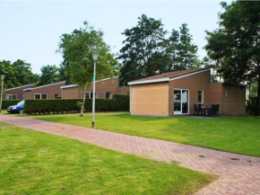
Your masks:
<path fill-rule="evenodd" d="M 65 75 L 69 75 L 70 82 L 78 84 L 85 92 L 93 78 L 94 62 L 91 51 L 100 53 L 96 71 L 98 80 L 117 74 L 117 62 L 109 54 L 110 48 L 103 40 L 103 32 L 95 30 L 88 22 L 83 24 L 79 30 L 61 36 L 57 51 L 63 55 Z M 81 116 L 85 103 L 85 93 L 83 94 Z"/>

